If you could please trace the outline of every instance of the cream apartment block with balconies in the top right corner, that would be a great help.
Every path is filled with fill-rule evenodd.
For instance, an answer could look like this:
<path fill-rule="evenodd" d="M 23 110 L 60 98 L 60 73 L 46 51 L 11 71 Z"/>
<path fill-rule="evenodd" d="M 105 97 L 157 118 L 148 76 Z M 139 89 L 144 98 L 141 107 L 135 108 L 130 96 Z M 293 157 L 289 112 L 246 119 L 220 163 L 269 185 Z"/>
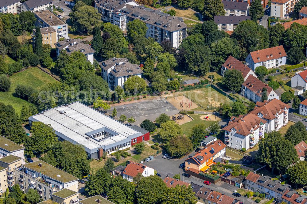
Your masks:
<path fill-rule="evenodd" d="M 288 18 L 293 12 L 296 0 L 272 0 L 271 16 L 277 18 Z"/>

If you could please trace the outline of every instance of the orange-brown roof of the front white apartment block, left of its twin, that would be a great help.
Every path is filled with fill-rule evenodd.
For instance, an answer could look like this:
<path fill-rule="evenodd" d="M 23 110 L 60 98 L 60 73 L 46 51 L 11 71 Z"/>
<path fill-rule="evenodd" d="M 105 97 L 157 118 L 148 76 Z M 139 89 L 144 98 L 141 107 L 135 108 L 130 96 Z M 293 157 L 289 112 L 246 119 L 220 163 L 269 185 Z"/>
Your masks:
<path fill-rule="evenodd" d="M 247 136 L 251 134 L 251 130 L 257 130 L 260 127 L 260 123 L 266 123 L 266 120 L 259 118 L 255 114 L 247 114 L 245 116 L 239 115 L 239 117 L 231 116 L 230 121 L 226 127 L 222 130 L 231 131 L 235 129 L 237 134 Z"/>

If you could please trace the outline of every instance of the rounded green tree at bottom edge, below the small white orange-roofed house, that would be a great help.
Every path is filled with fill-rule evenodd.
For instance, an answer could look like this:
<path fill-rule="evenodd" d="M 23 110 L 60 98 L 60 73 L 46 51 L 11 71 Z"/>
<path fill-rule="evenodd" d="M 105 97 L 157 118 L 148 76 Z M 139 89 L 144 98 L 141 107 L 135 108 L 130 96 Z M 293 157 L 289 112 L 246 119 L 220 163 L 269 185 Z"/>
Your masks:
<path fill-rule="evenodd" d="M 165 198 L 167 187 L 157 176 L 142 178 L 136 187 L 135 197 L 138 204 L 160 203 Z"/>

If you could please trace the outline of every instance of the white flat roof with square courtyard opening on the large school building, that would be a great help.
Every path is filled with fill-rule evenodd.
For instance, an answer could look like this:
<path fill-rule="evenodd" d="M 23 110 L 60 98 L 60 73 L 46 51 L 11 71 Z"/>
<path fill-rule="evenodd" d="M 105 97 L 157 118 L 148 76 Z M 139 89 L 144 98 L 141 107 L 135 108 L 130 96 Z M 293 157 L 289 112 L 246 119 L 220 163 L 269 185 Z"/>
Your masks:
<path fill-rule="evenodd" d="M 100 147 L 110 149 L 142 135 L 142 133 L 78 101 L 42 111 L 29 117 L 29 120 L 50 124 L 56 135 L 73 144 L 84 145 L 88 153 L 95 153 Z M 107 127 L 118 134 L 100 142 L 86 135 L 88 132 L 103 127 Z"/>

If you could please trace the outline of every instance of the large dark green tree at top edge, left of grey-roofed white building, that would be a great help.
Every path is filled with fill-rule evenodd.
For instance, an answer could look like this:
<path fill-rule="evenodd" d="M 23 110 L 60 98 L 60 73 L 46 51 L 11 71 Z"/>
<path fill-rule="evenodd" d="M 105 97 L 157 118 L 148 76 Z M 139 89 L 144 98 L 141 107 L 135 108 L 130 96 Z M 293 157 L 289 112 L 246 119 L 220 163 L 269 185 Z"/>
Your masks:
<path fill-rule="evenodd" d="M 226 11 L 224 10 L 224 5 L 219 0 L 207 0 L 204 2 L 203 15 L 206 20 L 213 20 L 214 16 L 223 16 Z"/>

